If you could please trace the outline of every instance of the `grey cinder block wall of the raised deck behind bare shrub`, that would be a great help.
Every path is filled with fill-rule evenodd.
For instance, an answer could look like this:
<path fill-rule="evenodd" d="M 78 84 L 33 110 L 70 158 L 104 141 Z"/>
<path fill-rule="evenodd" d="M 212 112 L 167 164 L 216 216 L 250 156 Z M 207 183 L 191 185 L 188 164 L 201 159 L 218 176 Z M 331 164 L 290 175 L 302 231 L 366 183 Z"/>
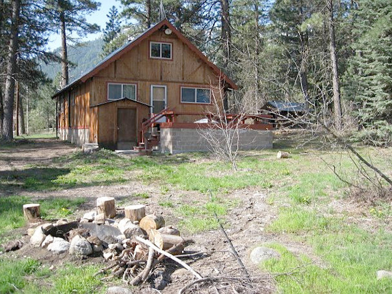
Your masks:
<path fill-rule="evenodd" d="M 221 130 L 197 128 L 161 128 L 161 152 L 171 154 L 191 151 L 209 151 L 211 146 L 205 137 L 214 137 L 223 143 Z M 252 129 L 239 130 L 240 150 L 260 150 L 272 148 L 273 134 L 271 131 Z M 236 136 L 234 142 L 237 141 Z M 236 143 L 233 144 L 235 147 Z"/>

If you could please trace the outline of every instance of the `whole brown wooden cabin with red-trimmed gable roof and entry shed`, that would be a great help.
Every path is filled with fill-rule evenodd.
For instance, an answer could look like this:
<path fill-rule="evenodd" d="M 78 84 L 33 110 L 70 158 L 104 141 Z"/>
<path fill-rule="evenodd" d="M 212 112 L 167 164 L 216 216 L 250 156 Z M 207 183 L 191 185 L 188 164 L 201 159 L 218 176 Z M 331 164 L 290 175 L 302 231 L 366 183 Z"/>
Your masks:
<path fill-rule="evenodd" d="M 213 95 L 231 89 L 236 84 L 163 20 L 54 94 L 59 136 L 129 149 L 143 141 L 144 122 L 167 122 L 162 114 L 175 110 L 178 123 L 193 123 Z"/>

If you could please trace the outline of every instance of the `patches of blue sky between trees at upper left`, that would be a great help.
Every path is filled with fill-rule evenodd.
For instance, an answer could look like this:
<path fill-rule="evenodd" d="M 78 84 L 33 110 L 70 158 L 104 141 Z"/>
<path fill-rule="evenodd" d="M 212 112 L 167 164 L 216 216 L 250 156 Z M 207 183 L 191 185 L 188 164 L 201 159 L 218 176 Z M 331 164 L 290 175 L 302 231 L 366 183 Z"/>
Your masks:
<path fill-rule="evenodd" d="M 94 12 L 91 15 L 86 16 L 86 19 L 89 23 L 91 24 L 97 24 L 100 26 L 101 30 L 105 28 L 105 24 L 108 20 L 107 14 L 109 13 L 110 7 L 113 5 L 117 7 L 117 9 L 122 11 L 121 4 L 119 1 L 115 0 L 101 0 L 101 6 L 99 7 L 99 10 Z M 94 40 L 97 39 L 99 36 L 102 35 L 102 32 L 98 32 L 96 34 L 89 34 L 86 38 L 83 38 L 82 41 L 89 41 L 89 40 Z M 60 37 L 60 31 L 58 34 L 52 34 L 49 36 L 49 43 L 48 47 L 50 49 L 56 49 L 58 47 L 61 47 L 61 37 Z"/>

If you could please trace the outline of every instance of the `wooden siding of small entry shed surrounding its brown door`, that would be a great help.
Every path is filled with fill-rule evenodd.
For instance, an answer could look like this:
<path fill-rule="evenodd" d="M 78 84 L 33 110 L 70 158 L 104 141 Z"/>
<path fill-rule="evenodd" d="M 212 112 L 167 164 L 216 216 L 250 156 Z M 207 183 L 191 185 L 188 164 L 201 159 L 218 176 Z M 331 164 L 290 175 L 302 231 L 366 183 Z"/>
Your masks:
<path fill-rule="evenodd" d="M 98 142 L 102 147 L 114 149 L 117 145 L 117 110 L 119 108 L 136 109 L 136 125 L 129 126 L 136 128 L 138 142 L 141 141 L 140 123 L 143 118 L 148 119 L 149 107 L 146 105 L 130 101 L 113 101 L 94 107 L 98 113 Z"/>

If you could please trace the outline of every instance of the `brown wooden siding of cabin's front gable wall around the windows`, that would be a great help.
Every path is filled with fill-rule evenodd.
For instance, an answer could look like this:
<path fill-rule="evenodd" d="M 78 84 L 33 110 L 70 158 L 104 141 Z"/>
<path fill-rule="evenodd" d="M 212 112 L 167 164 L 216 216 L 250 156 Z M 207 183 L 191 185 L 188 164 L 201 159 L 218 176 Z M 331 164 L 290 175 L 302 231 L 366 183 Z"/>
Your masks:
<path fill-rule="evenodd" d="M 151 41 L 171 43 L 172 60 L 150 58 Z M 92 106 L 107 101 L 108 83 L 136 84 L 136 99 L 146 104 L 151 104 L 151 85 L 166 85 L 167 106 L 175 108 L 175 112 L 200 113 L 211 110 L 213 106 L 203 103 L 182 103 L 182 86 L 212 88 L 218 99 L 222 97 L 220 91 L 223 93 L 216 73 L 174 34 L 166 35 L 160 30 L 98 72 L 92 83 Z M 179 122 L 194 121 L 195 116 L 179 117 Z"/>

